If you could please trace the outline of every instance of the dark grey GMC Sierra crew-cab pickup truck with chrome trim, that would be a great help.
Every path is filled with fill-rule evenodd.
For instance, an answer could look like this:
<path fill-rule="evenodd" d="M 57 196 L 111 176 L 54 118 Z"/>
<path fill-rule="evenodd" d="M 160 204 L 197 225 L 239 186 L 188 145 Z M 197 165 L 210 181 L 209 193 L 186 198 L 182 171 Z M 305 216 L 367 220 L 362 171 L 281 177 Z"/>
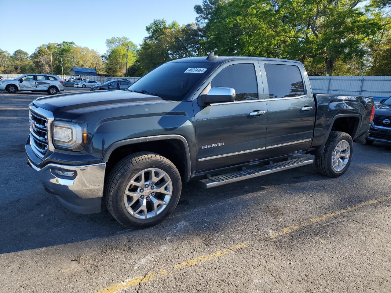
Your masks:
<path fill-rule="evenodd" d="M 312 93 L 297 61 L 210 54 L 162 64 L 126 91 L 44 96 L 29 111 L 28 164 L 46 191 L 76 213 L 103 200 L 140 228 L 166 218 L 190 179 L 212 188 L 312 163 L 343 175 L 375 107 Z"/>

